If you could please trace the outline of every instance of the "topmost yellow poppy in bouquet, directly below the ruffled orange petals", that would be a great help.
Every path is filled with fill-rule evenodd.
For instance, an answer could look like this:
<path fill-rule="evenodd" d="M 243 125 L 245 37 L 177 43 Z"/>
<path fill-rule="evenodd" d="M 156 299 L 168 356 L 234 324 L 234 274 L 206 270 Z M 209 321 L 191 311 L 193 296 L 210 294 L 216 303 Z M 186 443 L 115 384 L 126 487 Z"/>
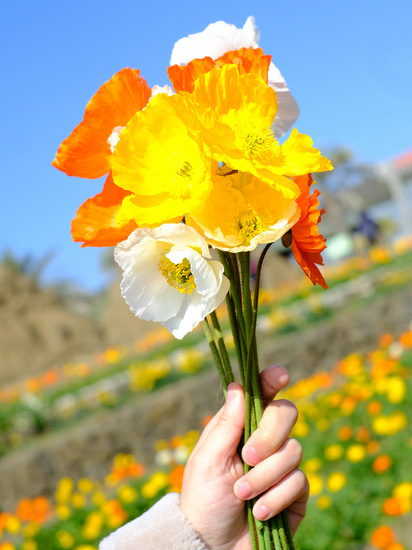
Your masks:
<path fill-rule="evenodd" d="M 175 103 L 208 157 L 249 172 L 285 197 L 293 199 L 299 193 L 290 178 L 332 168 L 312 147 L 310 137 L 295 129 L 279 145 L 270 129 L 277 112 L 276 93 L 260 76 L 240 74 L 235 65 L 212 69 L 198 78 L 193 93 Z"/>

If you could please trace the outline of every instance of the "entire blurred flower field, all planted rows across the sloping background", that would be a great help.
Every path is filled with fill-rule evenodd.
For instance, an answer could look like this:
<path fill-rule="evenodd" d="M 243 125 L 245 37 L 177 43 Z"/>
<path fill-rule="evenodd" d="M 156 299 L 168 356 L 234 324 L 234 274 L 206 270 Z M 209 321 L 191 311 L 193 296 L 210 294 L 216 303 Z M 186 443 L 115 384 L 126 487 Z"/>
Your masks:
<path fill-rule="evenodd" d="M 328 293 L 309 294 L 306 283 L 276 294 L 266 289 L 260 331 L 303 330 L 333 315 L 345 299 L 367 306 L 380 293 L 409 285 L 407 249 L 374 249 L 367 259 L 348 260 L 328 275 Z M 366 274 L 367 297 L 359 290 Z M 111 348 L 89 363 L 56 367 L 4 388 L 3 454 L 99 408 L 121 406 L 208 368 L 201 342 L 195 332 L 178 345 L 161 330 L 133 349 Z M 301 550 L 412 548 L 411 372 L 412 330 L 405 327 L 399 338 L 382 334 L 368 354 L 348 355 L 330 371 L 307 376 L 284 392 L 300 411 L 294 436 L 303 445 L 302 468 L 311 484 L 307 518 L 297 535 Z M 67 477 L 53 496 L 24 498 L 10 510 L 0 507 L 0 550 L 97 549 L 107 533 L 164 493 L 179 490 L 198 436 L 192 431 L 158 441 L 154 468 L 119 454 L 103 480 Z"/>

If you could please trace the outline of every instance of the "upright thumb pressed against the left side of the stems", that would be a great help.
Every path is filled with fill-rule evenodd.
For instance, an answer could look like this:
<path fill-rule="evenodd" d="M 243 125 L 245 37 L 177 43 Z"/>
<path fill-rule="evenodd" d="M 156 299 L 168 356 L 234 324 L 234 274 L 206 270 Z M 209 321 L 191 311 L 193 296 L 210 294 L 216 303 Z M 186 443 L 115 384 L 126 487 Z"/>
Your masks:
<path fill-rule="evenodd" d="M 245 397 L 240 384 L 229 384 L 226 403 L 212 422 L 203 450 L 216 461 L 232 458 L 245 427 Z"/>

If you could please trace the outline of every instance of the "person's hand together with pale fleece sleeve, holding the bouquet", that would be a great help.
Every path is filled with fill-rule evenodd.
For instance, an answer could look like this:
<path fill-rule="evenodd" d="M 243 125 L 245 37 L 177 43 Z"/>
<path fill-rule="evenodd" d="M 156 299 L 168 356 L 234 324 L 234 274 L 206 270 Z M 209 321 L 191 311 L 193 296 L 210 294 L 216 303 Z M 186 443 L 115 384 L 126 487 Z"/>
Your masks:
<path fill-rule="evenodd" d="M 164 496 L 145 514 L 105 538 L 100 550 L 252 550 L 245 502 L 257 498 L 260 520 L 286 510 L 292 533 L 306 513 L 309 483 L 299 470 L 300 444 L 290 439 L 296 407 L 273 401 L 289 382 L 282 367 L 261 373 L 266 409 L 259 428 L 243 446 L 254 466 L 243 474 L 238 446 L 244 428 L 245 398 L 230 384 L 225 405 L 213 417 L 185 468 L 182 494 Z"/>

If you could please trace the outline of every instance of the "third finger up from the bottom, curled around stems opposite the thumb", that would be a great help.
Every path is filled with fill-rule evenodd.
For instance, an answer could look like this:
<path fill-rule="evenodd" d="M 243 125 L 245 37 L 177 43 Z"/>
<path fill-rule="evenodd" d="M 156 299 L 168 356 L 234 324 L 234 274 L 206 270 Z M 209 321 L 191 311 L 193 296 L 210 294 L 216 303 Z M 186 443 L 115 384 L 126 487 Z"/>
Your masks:
<path fill-rule="evenodd" d="M 271 401 L 242 449 L 243 460 L 255 466 L 276 452 L 289 437 L 297 419 L 298 410 L 293 403 L 286 399 Z"/>

